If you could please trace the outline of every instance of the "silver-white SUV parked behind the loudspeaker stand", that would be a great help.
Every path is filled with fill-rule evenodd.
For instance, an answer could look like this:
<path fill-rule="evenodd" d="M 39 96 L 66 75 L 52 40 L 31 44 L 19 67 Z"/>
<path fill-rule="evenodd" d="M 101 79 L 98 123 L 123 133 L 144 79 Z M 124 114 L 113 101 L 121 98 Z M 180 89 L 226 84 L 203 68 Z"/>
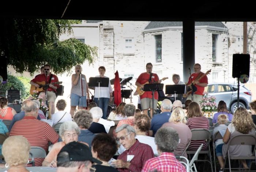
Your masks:
<path fill-rule="evenodd" d="M 233 83 L 209 83 L 204 91 L 208 92 L 208 95 L 216 97 L 217 105 L 219 101 L 225 101 L 227 110 L 234 114 L 237 109 L 237 85 Z M 239 107 L 249 109 L 249 103 L 252 101 L 251 91 L 241 83 L 239 92 Z"/>

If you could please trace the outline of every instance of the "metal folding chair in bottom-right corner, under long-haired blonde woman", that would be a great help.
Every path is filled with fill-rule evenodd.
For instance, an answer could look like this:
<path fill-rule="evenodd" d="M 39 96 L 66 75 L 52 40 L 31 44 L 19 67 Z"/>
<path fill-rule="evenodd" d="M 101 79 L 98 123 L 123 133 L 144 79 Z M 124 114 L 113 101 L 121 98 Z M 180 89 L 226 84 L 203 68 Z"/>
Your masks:
<path fill-rule="evenodd" d="M 252 145 L 252 155 L 251 156 L 231 156 L 229 152 L 229 147 L 231 145 Z M 252 134 L 239 134 L 230 139 L 227 144 L 227 153 L 224 161 L 224 167 L 226 165 L 227 159 L 229 160 L 229 171 L 231 172 L 230 160 L 255 160 L 256 161 L 256 136 Z M 223 168 L 223 171 L 227 168 Z M 232 168 L 232 169 L 242 169 L 242 168 Z"/>

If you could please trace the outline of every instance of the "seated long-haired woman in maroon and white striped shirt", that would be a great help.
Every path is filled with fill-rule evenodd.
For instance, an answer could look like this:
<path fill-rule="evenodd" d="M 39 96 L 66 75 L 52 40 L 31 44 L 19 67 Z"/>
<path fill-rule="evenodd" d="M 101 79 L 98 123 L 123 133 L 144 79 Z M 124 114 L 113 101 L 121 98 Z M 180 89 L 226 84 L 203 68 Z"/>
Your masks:
<path fill-rule="evenodd" d="M 187 125 L 190 129 L 209 129 L 209 121 L 203 116 L 200 106 L 196 102 L 191 102 L 188 106 Z M 206 140 L 191 140 L 189 150 L 197 150 L 203 144 L 202 150 L 207 149 Z"/>

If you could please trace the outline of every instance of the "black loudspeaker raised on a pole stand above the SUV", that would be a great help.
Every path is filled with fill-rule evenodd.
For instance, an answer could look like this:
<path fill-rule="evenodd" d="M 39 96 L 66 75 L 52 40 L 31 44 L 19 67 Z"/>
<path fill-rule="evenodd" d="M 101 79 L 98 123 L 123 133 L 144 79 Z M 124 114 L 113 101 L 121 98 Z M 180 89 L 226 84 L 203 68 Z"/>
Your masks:
<path fill-rule="evenodd" d="M 249 54 L 233 54 L 232 77 L 240 78 L 240 75 L 250 73 L 250 55 Z"/>

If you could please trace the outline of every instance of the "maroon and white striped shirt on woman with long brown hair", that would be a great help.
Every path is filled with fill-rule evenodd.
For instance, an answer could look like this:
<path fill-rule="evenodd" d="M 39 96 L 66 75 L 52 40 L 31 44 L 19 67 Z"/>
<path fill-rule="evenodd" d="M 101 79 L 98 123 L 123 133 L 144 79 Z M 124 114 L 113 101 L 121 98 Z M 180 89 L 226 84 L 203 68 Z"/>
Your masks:
<path fill-rule="evenodd" d="M 189 118 L 187 125 L 190 129 L 209 129 L 209 121 L 206 117 Z M 201 144 L 203 144 L 202 150 L 207 149 L 207 142 L 205 140 L 191 140 L 188 149 L 197 150 Z"/>

